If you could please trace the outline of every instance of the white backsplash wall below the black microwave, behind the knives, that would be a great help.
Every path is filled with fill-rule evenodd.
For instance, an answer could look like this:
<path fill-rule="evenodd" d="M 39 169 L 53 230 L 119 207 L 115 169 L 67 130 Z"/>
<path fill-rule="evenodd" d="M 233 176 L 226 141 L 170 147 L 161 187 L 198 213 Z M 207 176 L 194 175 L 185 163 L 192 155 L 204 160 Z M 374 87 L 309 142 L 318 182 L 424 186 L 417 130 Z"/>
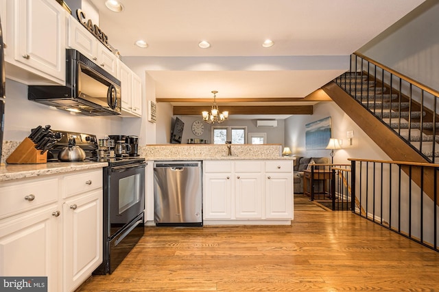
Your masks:
<path fill-rule="evenodd" d="M 95 134 L 99 139 L 121 133 L 122 121 L 119 116 L 88 117 L 51 109 L 27 100 L 27 85 L 6 79 L 4 141 L 22 141 L 32 128 L 46 124 L 54 130 Z"/>

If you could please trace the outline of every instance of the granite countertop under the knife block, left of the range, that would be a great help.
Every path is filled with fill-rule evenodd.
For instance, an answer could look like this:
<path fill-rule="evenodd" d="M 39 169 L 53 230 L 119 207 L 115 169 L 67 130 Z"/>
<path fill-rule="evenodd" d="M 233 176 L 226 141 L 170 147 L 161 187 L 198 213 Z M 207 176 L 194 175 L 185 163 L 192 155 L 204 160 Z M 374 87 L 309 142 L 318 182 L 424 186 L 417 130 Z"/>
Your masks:
<path fill-rule="evenodd" d="M 48 174 L 60 174 L 77 170 L 104 168 L 106 162 L 49 162 L 38 164 L 7 164 L 0 166 L 0 181 L 12 181 L 19 178 L 29 178 Z"/>

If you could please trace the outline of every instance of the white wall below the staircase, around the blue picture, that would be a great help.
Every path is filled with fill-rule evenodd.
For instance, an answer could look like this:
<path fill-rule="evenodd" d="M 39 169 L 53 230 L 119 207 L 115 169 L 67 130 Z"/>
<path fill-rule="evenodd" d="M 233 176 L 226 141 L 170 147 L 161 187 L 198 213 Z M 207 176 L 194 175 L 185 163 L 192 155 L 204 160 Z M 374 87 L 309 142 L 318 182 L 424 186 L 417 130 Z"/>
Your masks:
<path fill-rule="evenodd" d="M 350 163 L 348 158 L 390 160 L 377 144 L 362 131 L 334 102 L 322 102 L 314 106 L 312 115 L 295 115 L 285 120 L 285 146 L 296 156 L 330 157 L 331 150 L 307 150 L 305 148 L 305 124 L 331 117 L 331 136 L 343 140 L 342 149 L 334 150 L 334 163 Z M 346 137 L 353 131 L 352 146 Z"/>

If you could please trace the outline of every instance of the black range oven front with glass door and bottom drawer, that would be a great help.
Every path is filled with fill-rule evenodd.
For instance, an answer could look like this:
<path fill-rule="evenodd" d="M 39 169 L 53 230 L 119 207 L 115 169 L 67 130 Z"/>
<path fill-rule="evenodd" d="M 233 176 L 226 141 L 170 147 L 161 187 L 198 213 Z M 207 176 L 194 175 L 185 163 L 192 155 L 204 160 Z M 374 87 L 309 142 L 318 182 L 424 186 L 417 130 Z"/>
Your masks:
<path fill-rule="evenodd" d="M 127 157 L 104 168 L 104 260 L 93 274 L 111 274 L 143 236 L 145 166 Z"/>

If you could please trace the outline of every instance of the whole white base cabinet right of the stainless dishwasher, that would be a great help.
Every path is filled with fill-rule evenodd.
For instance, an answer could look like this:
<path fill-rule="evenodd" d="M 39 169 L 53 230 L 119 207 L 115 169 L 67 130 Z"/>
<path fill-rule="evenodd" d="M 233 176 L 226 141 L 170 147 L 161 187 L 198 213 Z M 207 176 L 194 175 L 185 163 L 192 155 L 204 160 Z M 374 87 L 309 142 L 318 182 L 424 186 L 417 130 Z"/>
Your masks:
<path fill-rule="evenodd" d="M 288 224 L 292 166 L 289 160 L 204 161 L 204 224 Z"/>

